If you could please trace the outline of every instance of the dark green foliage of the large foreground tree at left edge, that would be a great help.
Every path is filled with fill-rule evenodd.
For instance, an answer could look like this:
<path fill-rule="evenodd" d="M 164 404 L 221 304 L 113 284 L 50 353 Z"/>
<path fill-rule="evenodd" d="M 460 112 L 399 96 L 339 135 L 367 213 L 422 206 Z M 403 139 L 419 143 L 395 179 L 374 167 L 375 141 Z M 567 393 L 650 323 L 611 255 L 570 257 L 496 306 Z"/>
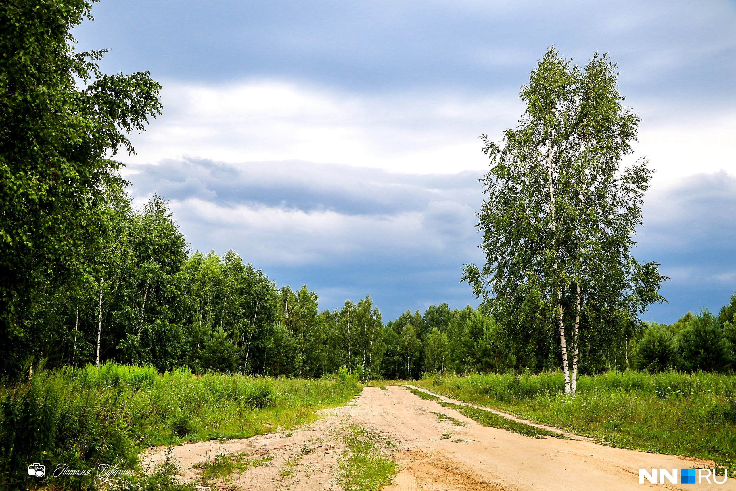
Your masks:
<path fill-rule="evenodd" d="M 104 52 L 74 52 L 71 29 L 91 1 L 8 0 L 0 6 L 0 359 L 18 368 L 43 337 L 44 296 L 94 276 L 111 231 L 105 189 L 119 187 L 125 136 L 160 114 L 147 72 L 106 75 Z M 100 240 L 104 237 L 105 240 Z M 99 276 L 98 276 L 99 277 Z M 9 352 L 7 347 L 20 348 Z"/>

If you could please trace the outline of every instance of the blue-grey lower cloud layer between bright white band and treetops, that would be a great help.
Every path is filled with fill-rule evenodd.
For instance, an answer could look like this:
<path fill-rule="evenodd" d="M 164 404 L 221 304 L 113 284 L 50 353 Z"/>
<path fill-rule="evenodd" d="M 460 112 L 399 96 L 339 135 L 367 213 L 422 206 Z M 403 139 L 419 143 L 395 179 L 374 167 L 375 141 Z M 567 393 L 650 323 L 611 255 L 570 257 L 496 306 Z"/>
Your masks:
<path fill-rule="evenodd" d="M 478 171 L 389 173 L 307 161 L 208 160 L 133 165 L 138 203 L 171 201 L 192 250 L 233 248 L 280 285 L 304 283 L 322 307 L 366 294 L 389 318 L 448 302 L 477 304 L 459 284 L 481 262 Z M 671 322 L 718 310 L 736 282 L 736 177 L 699 174 L 650 194 L 636 255 L 662 265 L 669 304 L 644 316 Z"/>

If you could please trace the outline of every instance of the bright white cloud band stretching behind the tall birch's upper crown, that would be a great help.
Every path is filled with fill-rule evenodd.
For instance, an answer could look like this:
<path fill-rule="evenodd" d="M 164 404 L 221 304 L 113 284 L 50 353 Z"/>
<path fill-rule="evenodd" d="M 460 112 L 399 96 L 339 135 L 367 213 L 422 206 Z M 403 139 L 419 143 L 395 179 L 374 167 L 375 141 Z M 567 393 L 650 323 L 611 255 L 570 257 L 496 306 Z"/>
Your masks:
<path fill-rule="evenodd" d="M 163 116 L 133 138 L 138 155 L 125 160 L 199 156 L 303 159 L 410 173 L 481 170 L 487 161 L 478 135 L 500 139 L 523 111 L 515 94 L 416 91 L 358 97 L 272 81 L 220 87 L 165 84 L 163 104 Z M 655 182 L 736 171 L 736 114 L 682 111 L 644 108 L 634 158 L 648 156 L 657 170 Z"/>

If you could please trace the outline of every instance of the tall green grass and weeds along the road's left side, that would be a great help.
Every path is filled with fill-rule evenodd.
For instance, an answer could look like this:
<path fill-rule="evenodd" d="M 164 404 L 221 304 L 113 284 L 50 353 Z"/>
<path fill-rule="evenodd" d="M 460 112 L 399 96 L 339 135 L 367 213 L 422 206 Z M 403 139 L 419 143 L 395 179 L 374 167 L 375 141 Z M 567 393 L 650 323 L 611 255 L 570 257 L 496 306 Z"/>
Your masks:
<path fill-rule="evenodd" d="M 143 448 L 289 428 L 360 391 L 353 377 L 273 379 L 188 369 L 159 375 L 152 366 L 116 363 L 36 370 L 29 382 L 0 386 L 0 489 L 42 484 L 26 472 L 34 462 L 46 465 L 43 484 L 91 489 L 91 478 L 54 478 L 50 470 L 59 463 L 135 468 Z"/>

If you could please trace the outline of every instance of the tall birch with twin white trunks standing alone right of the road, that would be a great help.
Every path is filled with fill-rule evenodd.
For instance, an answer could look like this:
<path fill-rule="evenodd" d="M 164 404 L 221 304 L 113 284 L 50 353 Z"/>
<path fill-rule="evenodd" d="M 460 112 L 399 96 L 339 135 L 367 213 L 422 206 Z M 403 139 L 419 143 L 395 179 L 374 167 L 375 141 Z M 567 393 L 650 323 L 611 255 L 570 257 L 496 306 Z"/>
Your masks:
<path fill-rule="evenodd" d="M 554 319 L 572 394 L 586 302 L 635 317 L 662 300 L 657 263 L 631 255 L 651 171 L 645 160 L 621 168 L 640 119 L 623 108 L 615 70 L 606 55 L 581 69 L 549 49 L 521 88 L 516 128 L 500 144 L 481 136 L 486 263 L 466 265 L 464 279 L 496 308 L 536 305 Z"/>

